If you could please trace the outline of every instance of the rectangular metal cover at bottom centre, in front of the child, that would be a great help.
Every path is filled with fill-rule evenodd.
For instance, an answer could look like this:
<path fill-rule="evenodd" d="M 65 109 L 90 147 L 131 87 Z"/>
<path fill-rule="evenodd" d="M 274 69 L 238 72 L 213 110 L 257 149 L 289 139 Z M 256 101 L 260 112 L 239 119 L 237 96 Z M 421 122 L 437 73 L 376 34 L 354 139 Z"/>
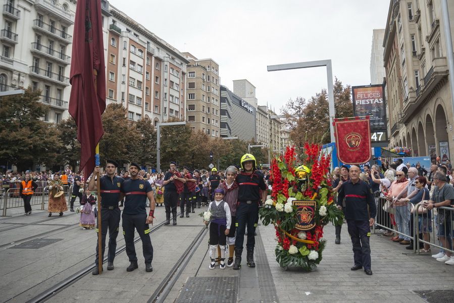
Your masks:
<path fill-rule="evenodd" d="M 191 277 L 176 302 L 235 303 L 237 281 L 237 277 Z"/>

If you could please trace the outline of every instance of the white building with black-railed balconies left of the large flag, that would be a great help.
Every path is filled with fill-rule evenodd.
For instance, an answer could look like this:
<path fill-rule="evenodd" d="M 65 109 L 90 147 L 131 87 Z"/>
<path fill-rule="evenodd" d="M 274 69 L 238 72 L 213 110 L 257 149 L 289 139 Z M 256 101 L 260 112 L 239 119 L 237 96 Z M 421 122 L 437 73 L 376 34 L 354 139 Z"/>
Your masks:
<path fill-rule="evenodd" d="M 69 72 L 76 1 L 7 0 L 0 18 L 0 90 L 31 86 L 49 106 L 42 118 L 68 115 Z"/>

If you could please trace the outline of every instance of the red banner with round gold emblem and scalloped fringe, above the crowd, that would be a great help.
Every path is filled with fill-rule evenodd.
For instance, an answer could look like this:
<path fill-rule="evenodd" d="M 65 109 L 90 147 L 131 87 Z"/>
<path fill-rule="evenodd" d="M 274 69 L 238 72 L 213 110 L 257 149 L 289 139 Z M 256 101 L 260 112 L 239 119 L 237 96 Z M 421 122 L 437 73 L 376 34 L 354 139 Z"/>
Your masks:
<path fill-rule="evenodd" d="M 337 158 L 344 164 L 362 164 L 372 157 L 369 116 L 334 119 Z"/>

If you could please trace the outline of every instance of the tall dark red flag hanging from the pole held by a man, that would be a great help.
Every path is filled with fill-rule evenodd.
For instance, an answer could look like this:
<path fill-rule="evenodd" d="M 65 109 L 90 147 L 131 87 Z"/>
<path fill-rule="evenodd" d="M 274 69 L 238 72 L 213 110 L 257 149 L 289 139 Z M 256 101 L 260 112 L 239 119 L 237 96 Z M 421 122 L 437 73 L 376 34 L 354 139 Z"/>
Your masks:
<path fill-rule="evenodd" d="M 94 169 L 94 150 L 103 136 L 101 115 L 106 109 L 106 71 L 100 0 L 79 0 L 74 21 L 69 113 L 77 125 L 80 171 Z"/>

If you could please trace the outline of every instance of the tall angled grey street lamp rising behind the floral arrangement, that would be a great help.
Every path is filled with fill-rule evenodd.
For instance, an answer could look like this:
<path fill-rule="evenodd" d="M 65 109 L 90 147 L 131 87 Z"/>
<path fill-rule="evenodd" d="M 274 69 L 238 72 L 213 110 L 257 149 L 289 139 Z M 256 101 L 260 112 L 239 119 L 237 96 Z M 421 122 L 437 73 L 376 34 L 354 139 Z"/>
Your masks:
<path fill-rule="evenodd" d="M 326 66 L 326 77 L 328 80 L 328 105 L 329 105 L 329 116 L 334 118 L 334 91 L 333 91 L 333 69 L 331 66 L 331 60 L 319 60 L 319 61 L 308 61 L 308 62 L 298 62 L 298 63 L 289 63 L 289 64 L 278 64 L 278 65 L 269 65 L 267 67 L 269 72 L 274 71 L 284 71 L 289 69 L 299 69 L 299 68 L 310 68 L 310 67 L 322 67 Z M 331 142 L 335 142 L 334 139 L 334 128 L 329 121 L 329 129 L 331 133 Z"/>

